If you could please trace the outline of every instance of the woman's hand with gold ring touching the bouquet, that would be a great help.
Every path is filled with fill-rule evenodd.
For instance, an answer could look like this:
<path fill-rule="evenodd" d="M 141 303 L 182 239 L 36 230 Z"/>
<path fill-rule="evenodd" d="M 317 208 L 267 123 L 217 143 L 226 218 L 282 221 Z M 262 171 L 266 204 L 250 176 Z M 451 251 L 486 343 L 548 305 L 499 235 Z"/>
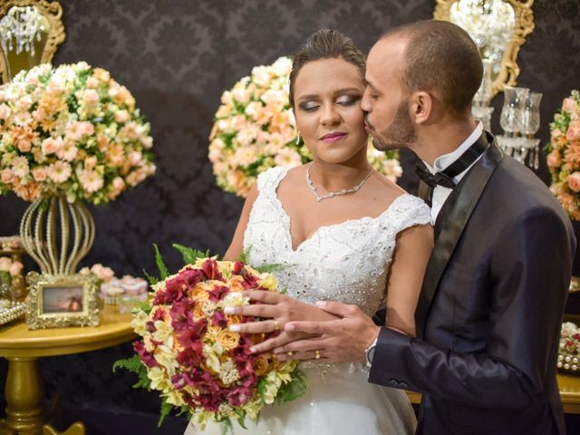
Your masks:
<path fill-rule="evenodd" d="M 297 299 L 281 295 L 279 293 L 265 292 L 263 290 L 250 290 L 243 293 L 244 296 L 260 304 L 243 306 L 228 306 L 224 310 L 226 314 L 261 317 L 268 320 L 251 322 L 247 324 L 233 324 L 230 331 L 236 333 L 272 333 L 280 330 L 277 336 L 256 344 L 252 352 L 266 352 L 275 347 L 283 346 L 295 340 L 315 337 L 311 333 L 290 333 L 284 331 L 285 324 L 293 321 L 325 321 L 337 317 L 321 310 L 315 305 L 304 304 Z"/>

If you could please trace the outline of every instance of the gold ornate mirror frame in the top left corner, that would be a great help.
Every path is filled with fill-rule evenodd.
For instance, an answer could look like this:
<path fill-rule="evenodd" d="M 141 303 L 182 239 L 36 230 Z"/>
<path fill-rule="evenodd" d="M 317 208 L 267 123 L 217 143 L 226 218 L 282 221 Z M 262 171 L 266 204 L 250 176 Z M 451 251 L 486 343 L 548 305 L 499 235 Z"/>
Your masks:
<path fill-rule="evenodd" d="M 42 41 L 40 42 L 41 45 L 39 48 L 42 54 L 39 56 L 38 63 L 50 63 L 53 60 L 56 47 L 64 41 L 63 6 L 57 1 L 49 2 L 48 0 L 5 0 L 0 2 L 0 19 L 8 14 L 8 11 L 14 6 L 34 6 L 43 15 L 43 18 L 46 19 L 48 29 L 43 34 Z M 38 47 L 36 43 L 34 45 Z M 31 64 L 30 67 L 32 66 L 35 65 Z M 0 73 L 2 74 L 2 82 L 8 82 L 11 79 L 9 71 L 8 53 L 4 53 L 4 50 L 0 47 Z"/>

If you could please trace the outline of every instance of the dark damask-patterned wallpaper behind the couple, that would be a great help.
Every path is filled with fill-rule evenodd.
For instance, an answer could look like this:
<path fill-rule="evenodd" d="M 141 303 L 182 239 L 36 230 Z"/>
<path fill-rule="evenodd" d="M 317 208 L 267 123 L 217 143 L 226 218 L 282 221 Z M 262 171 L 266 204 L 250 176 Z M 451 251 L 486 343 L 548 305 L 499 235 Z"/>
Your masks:
<path fill-rule="evenodd" d="M 177 267 L 179 255 L 171 243 L 223 254 L 232 237 L 242 201 L 218 189 L 207 158 L 207 138 L 221 92 L 252 66 L 290 53 L 316 29 L 339 29 L 368 51 L 391 27 L 430 19 L 435 2 L 61 0 L 61 4 L 67 36 L 53 62 L 85 60 L 110 70 L 131 90 L 151 122 L 158 172 L 110 205 L 92 208 L 97 237 L 84 262 L 111 266 L 118 275 L 140 275 L 142 268 L 154 269 L 153 243 L 160 246 L 169 266 Z M 580 86 L 580 6 L 577 0 L 539 0 L 533 8 L 536 29 L 519 53 L 518 84 L 544 92 L 539 136 L 546 141 L 554 111 L 570 89 Z M 494 101 L 496 131 L 502 102 L 501 95 Z M 414 192 L 416 160 L 408 152 L 401 160 L 405 170 L 401 186 Z M 538 175 L 547 182 L 545 160 Z M 0 198 L 0 235 L 17 232 L 25 207 L 14 196 Z M 111 373 L 112 362 L 130 352 L 129 345 L 122 345 L 44 359 L 47 397 L 63 395 L 69 408 L 96 416 L 90 433 L 179 433 L 175 428 L 183 426 L 182 420 L 173 420 L 169 424 L 174 426 L 159 432 L 138 430 L 137 423 L 131 429 L 105 429 L 111 420 L 100 416 L 113 409 L 119 421 L 127 412 L 153 419 L 158 409 L 154 394 L 131 390 L 131 376 Z"/>

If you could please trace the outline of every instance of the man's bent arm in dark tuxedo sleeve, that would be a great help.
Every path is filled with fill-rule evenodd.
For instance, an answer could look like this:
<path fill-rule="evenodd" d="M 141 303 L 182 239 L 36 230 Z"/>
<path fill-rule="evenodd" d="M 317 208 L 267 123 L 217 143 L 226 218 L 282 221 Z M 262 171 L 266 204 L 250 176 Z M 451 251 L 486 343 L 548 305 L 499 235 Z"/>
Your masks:
<path fill-rule="evenodd" d="M 570 277 L 570 237 L 552 210 L 534 210 L 498 237 L 483 353 L 456 353 L 382 328 L 369 380 L 492 408 L 523 408 L 546 384 Z"/>

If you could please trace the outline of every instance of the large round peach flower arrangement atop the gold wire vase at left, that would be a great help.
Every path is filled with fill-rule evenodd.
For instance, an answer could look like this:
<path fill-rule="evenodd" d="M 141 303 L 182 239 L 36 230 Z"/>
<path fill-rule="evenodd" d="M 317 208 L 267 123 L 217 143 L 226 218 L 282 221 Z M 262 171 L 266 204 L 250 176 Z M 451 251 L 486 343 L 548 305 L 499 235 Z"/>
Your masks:
<path fill-rule="evenodd" d="M 0 193 L 108 202 L 154 173 L 149 133 L 131 92 L 102 68 L 18 73 L 0 87 Z"/>

